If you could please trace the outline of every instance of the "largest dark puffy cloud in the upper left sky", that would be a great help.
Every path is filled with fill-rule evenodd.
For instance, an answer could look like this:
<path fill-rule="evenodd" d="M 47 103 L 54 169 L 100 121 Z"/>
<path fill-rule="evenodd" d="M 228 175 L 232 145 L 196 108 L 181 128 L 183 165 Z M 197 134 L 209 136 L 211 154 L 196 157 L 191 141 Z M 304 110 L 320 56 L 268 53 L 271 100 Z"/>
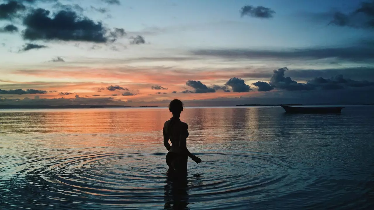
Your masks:
<path fill-rule="evenodd" d="M 49 16 L 45 9 L 35 9 L 24 19 L 26 29 L 23 38 L 27 40 L 108 41 L 101 22 L 95 23 L 87 17 L 80 17 L 71 10 L 61 10 Z"/>

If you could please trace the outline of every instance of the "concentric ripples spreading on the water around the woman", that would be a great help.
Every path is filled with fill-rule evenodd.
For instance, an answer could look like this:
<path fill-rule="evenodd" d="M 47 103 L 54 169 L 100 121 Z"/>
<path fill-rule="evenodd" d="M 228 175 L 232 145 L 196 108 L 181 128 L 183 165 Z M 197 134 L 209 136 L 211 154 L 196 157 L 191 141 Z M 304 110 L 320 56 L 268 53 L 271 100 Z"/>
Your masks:
<path fill-rule="evenodd" d="M 18 169 L 13 172 L 14 176 L 3 180 L 6 182 L 2 184 L 6 187 L 2 192 L 3 202 L 9 209 L 36 206 L 38 209 L 103 209 L 105 206 L 115 209 L 135 208 L 140 204 L 152 209 L 169 201 L 175 204 L 178 202 L 175 196 L 186 195 L 180 199 L 186 206 L 199 202 L 212 207 L 215 201 L 221 204 L 224 200 L 249 197 L 271 199 L 286 190 L 305 186 L 292 182 L 294 164 L 281 157 L 212 152 L 199 156 L 204 162 L 197 165 L 190 160 L 186 177 L 168 172 L 162 153 L 82 155 L 74 152 L 65 158 L 28 158 L 1 169 L 2 173 Z"/>

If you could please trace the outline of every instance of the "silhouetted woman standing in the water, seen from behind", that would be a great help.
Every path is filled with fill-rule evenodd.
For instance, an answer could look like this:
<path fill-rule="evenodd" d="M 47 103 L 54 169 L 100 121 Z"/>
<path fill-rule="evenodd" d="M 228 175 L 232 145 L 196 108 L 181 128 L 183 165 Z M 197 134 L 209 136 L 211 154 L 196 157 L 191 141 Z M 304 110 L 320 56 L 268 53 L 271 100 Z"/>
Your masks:
<path fill-rule="evenodd" d="M 201 163 L 201 160 L 187 149 L 188 125 L 179 119 L 183 111 L 183 103 L 174 99 L 169 104 L 169 111 L 173 117 L 166 121 L 163 127 L 164 145 L 169 151 L 166 155 L 166 163 L 174 170 L 187 170 L 187 157 L 196 163 Z"/>

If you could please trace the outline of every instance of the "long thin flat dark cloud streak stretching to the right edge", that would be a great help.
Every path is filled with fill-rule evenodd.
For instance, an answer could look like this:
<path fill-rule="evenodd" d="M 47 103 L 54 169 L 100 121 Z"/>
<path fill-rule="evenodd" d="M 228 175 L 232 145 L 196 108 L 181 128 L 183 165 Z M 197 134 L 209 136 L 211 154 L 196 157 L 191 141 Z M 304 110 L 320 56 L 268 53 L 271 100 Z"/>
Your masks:
<path fill-rule="evenodd" d="M 351 47 L 324 47 L 289 50 L 246 50 L 246 49 L 201 49 L 193 50 L 197 56 L 215 56 L 225 59 L 324 59 L 374 60 L 374 47 L 356 45 Z"/>

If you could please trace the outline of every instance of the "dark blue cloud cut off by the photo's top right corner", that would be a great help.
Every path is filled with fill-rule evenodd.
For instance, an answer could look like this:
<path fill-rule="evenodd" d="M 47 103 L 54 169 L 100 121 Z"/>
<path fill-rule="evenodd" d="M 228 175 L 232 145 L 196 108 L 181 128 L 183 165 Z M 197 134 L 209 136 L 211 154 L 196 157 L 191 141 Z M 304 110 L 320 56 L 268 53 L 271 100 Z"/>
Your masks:
<path fill-rule="evenodd" d="M 335 12 L 329 24 L 352 28 L 374 28 L 374 1 L 361 2 L 359 8 L 348 14 Z"/>

